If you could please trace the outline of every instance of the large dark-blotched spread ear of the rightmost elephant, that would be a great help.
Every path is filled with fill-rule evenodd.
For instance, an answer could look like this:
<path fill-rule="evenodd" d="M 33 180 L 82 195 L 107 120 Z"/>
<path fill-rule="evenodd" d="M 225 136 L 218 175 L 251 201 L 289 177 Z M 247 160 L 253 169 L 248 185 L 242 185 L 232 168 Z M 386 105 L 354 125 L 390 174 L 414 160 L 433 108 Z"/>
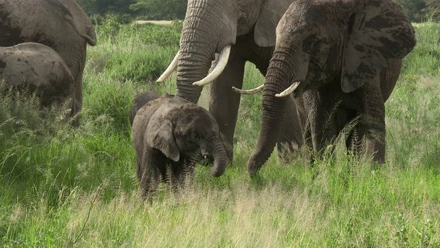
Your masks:
<path fill-rule="evenodd" d="M 403 59 L 416 43 L 410 21 L 391 0 L 366 1 L 349 22 L 341 78 L 346 93 L 371 81 L 391 62 Z"/>

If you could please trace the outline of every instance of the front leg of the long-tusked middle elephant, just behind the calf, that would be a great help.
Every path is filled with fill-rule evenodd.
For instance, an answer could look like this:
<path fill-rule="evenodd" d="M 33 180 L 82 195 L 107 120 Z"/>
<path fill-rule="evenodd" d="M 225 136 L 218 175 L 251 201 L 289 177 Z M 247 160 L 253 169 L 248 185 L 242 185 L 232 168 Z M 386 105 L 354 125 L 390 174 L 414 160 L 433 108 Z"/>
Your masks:
<path fill-rule="evenodd" d="M 232 86 L 241 88 L 244 69 L 244 60 L 230 59 L 221 75 L 211 84 L 210 89 L 209 111 L 219 124 L 220 132 L 230 147 L 233 147 L 234 143 L 234 130 L 241 96 L 232 91 Z M 233 149 L 227 149 L 229 161 L 232 161 L 233 152 Z"/>

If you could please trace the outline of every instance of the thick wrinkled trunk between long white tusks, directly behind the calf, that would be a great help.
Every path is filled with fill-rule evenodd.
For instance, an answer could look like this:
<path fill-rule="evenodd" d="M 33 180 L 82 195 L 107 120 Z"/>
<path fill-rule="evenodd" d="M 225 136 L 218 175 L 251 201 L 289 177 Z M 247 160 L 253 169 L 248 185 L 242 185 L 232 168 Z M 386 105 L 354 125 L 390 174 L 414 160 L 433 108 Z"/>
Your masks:
<path fill-rule="evenodd" d="M 192 83 L 208 75 L 216 52 L 235 43 L 236 24 L 232 23 L 236 17 L 225 6 L 219 1 L 188 1 L 180 39 L 176 96 L 197 103 L 202 88 Z"/>

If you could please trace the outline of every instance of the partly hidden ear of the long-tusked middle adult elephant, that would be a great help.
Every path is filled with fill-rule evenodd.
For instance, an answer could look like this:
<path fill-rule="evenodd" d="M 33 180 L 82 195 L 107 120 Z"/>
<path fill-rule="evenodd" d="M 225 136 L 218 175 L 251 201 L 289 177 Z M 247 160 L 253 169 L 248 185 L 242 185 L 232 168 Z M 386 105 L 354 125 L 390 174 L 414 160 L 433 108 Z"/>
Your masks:
<path fill-rule="evenodd" d="M 254 39 L 256 45 L 261 47 L 275 45 L 276 25 L 291 3 L 292 0 L 266 0 L 263 3 L 255 23 Z"/>

